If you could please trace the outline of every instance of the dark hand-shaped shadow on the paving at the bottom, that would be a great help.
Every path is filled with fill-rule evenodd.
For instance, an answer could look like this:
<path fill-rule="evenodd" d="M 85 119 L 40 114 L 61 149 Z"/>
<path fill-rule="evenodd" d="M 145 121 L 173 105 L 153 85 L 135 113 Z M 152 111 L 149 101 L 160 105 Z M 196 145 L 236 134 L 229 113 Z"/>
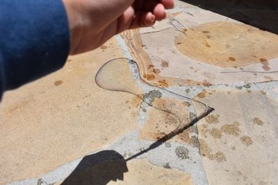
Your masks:
<path fill-rule="evenodd" d="M 124 179 L 128 172 L 124 157 L 115 150 L 104 150 L 82 159 L 63 185 L 104 185 Z"/>

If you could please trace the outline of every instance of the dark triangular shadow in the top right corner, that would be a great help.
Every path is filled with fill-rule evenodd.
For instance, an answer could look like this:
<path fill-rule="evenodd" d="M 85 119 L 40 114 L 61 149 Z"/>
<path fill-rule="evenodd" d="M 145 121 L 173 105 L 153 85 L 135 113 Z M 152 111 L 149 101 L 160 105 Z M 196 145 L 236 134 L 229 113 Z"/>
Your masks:
<path fill-rule="evenodd" d="M 204 10 L 278 34 L 277 0 L 181 0 Z"/>

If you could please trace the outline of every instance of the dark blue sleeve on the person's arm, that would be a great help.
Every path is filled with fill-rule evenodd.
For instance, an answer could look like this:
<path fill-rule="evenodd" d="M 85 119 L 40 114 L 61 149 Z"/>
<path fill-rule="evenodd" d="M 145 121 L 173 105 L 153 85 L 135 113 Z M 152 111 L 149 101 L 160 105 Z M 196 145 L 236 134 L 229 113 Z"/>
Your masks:
<path fill-rule="evenodd" d="M 3 91 L 63 67 L 69 51 L 61 0 L 0 1 L 0 100 Z"/>

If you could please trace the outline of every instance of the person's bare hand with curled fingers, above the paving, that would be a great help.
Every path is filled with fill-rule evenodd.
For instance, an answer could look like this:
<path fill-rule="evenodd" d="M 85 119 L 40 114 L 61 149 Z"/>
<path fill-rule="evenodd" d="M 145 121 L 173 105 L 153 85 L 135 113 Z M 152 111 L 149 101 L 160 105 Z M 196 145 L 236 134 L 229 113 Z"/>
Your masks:
<path fill-rule="evenodd" d="M 84 53 L 124 30 L 165 19 L 174 0 L 63 0 L 70 24 L 70 54 Z"/>

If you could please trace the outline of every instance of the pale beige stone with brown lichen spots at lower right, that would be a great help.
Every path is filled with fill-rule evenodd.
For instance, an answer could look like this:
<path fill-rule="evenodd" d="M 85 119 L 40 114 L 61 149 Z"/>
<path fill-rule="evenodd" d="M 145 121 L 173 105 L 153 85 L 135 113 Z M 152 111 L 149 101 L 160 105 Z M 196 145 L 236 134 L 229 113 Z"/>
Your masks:
<path fill-rule="evenodd" d="M 206 90 L 197 123 L 209 184 L 277 184 L 278 102 L 261 91 Z"/>

